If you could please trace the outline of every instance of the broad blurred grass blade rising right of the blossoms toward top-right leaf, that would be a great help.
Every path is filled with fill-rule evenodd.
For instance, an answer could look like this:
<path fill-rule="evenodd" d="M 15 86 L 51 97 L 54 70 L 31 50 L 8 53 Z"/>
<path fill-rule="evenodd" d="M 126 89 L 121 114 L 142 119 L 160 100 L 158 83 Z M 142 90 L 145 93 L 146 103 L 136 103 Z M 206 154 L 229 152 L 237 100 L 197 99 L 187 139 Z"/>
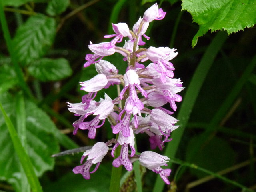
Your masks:
<path fill-rule="evenodd" d="M 188 119 L 196 102 L 196 98 L 200 92 L 206 75 L 210 70 L 210 67 L 212 66 L 212 63 L 214 62 L 214 59 L 218 54 L 220 48 L 222 47 L 222 44 L 225 42 L 226 38 L 227 34 L 225 32 L 218 32 L 216 34 L 216 36 L 206 49 L 206 52 L 204 53 L 204 56 L 202 57 L 196 71 L 194 72 L 192 80 L 188 88 L 186 89 L 187 91 L 184 96 L 184 100 L 182 101 L 180 111 L 178 113 L 177 119 L 180 120 L 178 123 L 180 127 L 172 133 L 173 140 L 172 142 L 168 143 L 165 150 L 165 155 L 169 158 L 173 158 L 176 154 L 176 151 L 178 150 L 180 140 L 186 128 L 186 124 L 188 123 Z M 170 167 L 170 164 L 168 166 Z M 163 190 L 163 188 L 164 182 L 161 180 L 160 176 L 158 176 L 154 185 L 153 192 L 160 192 Z"/>

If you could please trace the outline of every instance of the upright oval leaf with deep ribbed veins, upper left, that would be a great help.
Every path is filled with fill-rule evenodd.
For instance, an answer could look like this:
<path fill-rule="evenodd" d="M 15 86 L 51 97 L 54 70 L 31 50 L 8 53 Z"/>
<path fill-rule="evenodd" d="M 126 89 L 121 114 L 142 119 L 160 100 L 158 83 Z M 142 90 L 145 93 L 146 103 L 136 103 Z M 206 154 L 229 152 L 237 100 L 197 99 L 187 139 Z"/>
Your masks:
<path fill-rule="evenodd" d="M 54 41 L 56 23 L 54 18 L 42 14 L 31 16 L 14 36 L 14 51 L 25 65 L 46 54 Z"/>

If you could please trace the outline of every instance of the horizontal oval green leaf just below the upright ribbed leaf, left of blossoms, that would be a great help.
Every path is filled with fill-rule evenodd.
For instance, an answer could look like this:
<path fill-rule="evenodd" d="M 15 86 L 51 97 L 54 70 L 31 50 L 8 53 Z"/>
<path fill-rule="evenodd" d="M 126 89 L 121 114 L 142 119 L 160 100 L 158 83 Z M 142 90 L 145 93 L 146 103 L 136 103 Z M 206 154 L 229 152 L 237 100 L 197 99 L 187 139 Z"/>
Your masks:
<path fill-rule="evenodd" d="M 28 71 L 32 76 L 41 81 L 61 80 L 72 74 L 68 60 L 64 58 L 42 58 L 32 63 L 28 67 Z"/>

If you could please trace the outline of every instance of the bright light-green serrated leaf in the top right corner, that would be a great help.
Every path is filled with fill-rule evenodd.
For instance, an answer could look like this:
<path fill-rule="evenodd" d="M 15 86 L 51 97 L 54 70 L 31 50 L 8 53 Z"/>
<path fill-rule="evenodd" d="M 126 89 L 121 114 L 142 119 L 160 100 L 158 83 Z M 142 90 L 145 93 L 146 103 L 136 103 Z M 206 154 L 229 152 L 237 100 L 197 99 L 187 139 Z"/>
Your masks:
<path fill-rule="evenodd" d="M 182 0 L 182 10 L 190 12 L 199 24 L 192 47 L 208 30 L 226 30 L 230 34 L 256 23 L 255 0 Z"/>

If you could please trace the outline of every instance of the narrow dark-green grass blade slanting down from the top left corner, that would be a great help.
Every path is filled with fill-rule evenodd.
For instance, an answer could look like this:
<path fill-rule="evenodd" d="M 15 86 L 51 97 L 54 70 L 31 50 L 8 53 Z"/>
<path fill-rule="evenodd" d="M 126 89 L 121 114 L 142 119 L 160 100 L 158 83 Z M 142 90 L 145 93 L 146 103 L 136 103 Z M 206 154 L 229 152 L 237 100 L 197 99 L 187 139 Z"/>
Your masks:
<path fill-rule="evenodd" d="M 32 100 L 34 100 L 33 95 L 32 95 L 28 85 L 26 84 L 26 82 L 24 80 L 22 70 L 21 70 L 21 68 L 18 64 L 18 58 L 16 57 L 16 54 L 15 54 L 13 46 L 12 46 L 12 40 L 11 40 L 11 36 L 10 36 L 10 32 L 9 32 L 8 25 L 7 25 L 7 22 L 6 22 L 6 18 L 5 18 L 3 8 L 4 8 L 4 6 L 3 6 L 3 3 L 2 3 L 2 0 L 0 0 L 0 20 L 1 20 L 2 30 L 4 32 L 4 39 L 6 41 L 6 45 L 7 45 L 8 51 L 9 51 L 11 59 L 12 59 L 12 63 L 14 64 L 14 70 L 15 70 L 17 78 L 18 78 L 18 83 L 19 83 L 20 87 L 22 88 L 22 90 Z"/>

